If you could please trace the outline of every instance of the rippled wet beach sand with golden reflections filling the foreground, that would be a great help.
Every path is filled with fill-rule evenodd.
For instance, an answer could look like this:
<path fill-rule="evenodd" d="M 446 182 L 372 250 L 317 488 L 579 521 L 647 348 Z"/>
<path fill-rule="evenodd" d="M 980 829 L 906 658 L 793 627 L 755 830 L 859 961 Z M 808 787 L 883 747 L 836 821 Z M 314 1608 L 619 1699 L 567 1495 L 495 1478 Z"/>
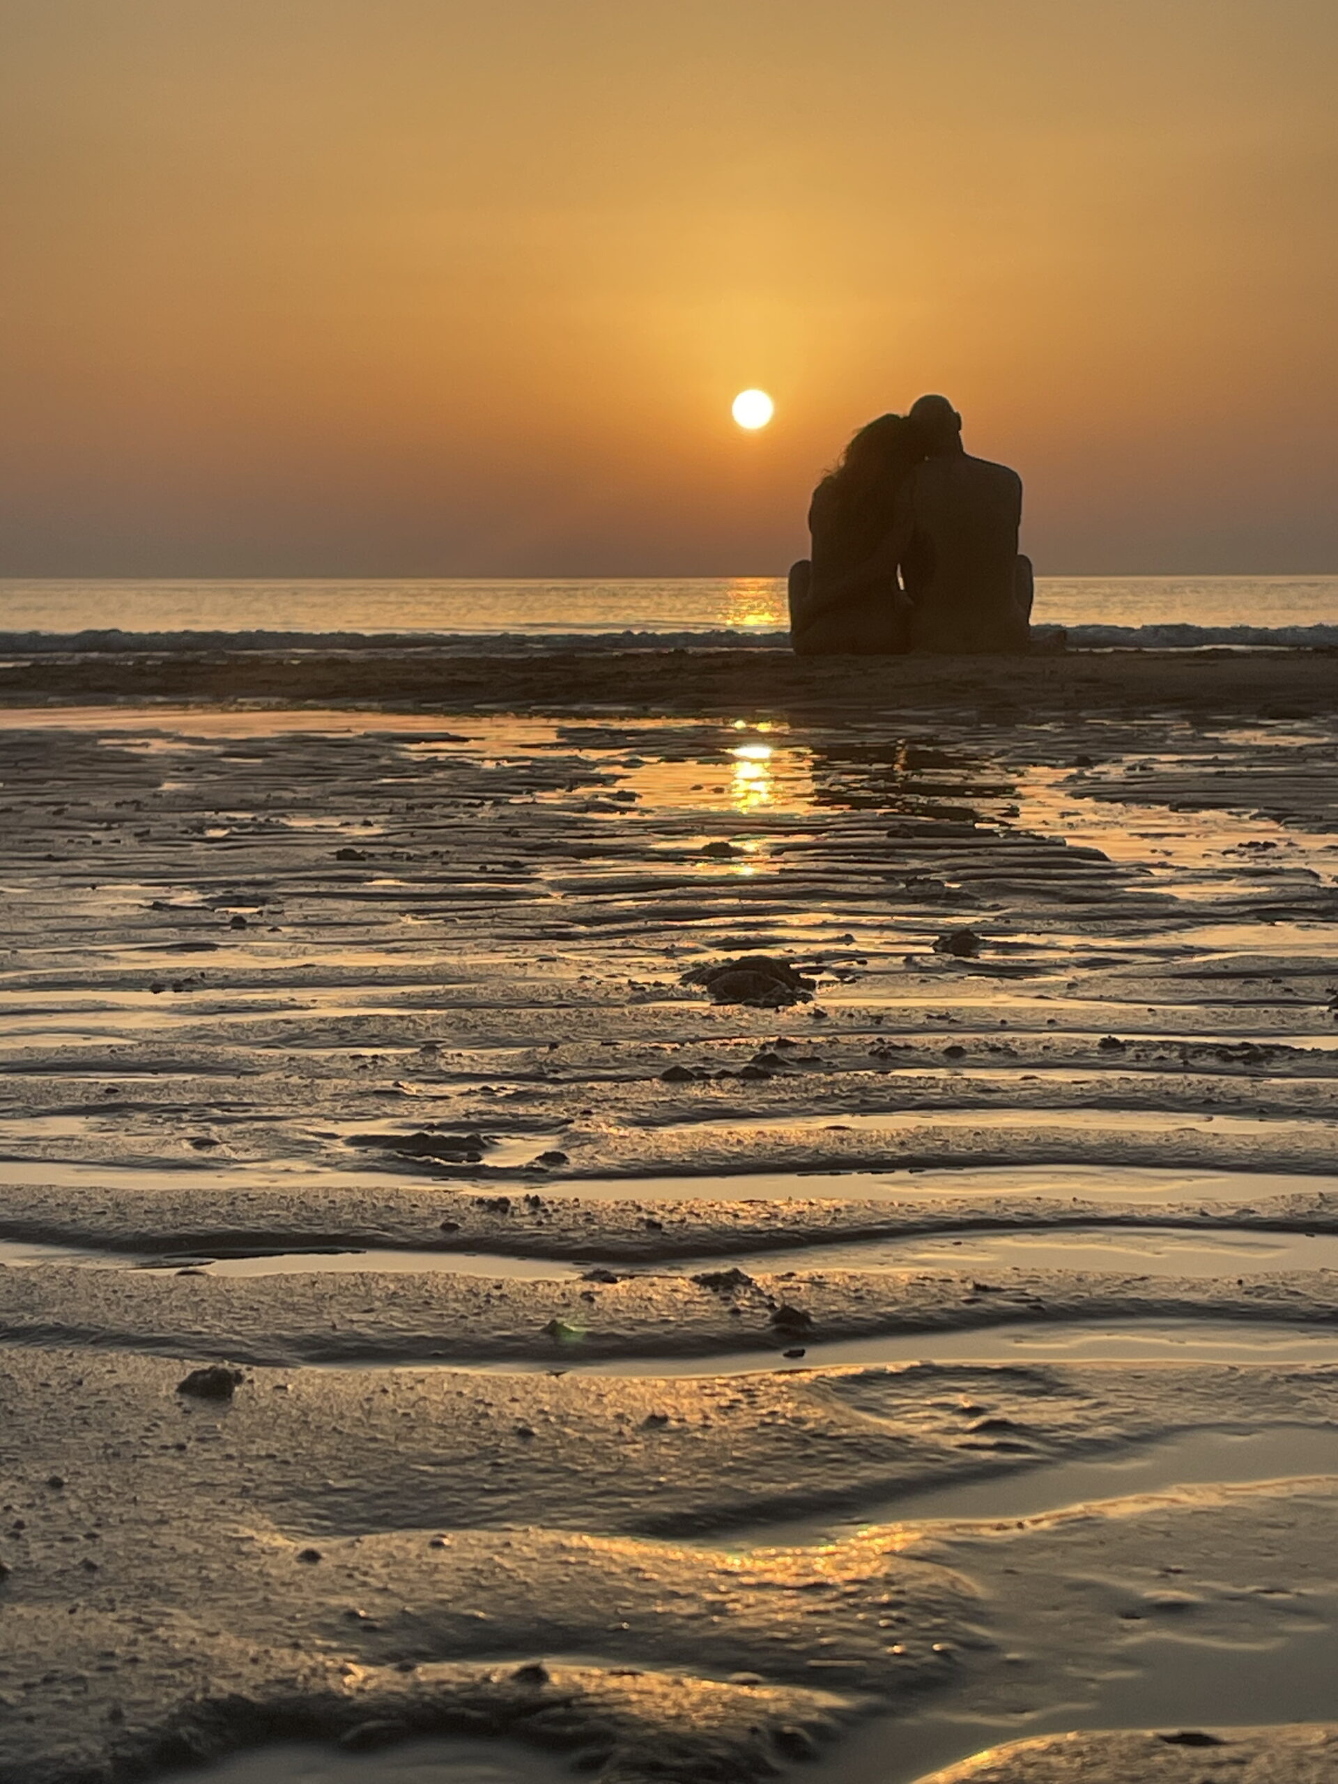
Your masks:
<path fill-rule="evenodd" d="M 5 1777 L 1327 1777 L 1331 689 L 0 667 Z"/>

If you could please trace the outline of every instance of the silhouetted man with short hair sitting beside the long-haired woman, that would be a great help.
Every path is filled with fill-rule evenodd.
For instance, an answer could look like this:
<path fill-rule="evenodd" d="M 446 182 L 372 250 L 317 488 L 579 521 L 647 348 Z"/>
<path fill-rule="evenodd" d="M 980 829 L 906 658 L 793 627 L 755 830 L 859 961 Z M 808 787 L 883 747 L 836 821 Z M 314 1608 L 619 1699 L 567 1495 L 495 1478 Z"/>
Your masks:
<path fill-rule="evenodd" d="M 1017 553 L 1022 478 L 962 446 L 962 416 L 946 396 L 912 405 L 926 457 L 897 492 L 892 535 L 913 603 L 912 649 L 1017 651 L 1028 646 L 1031 560 Z"/>

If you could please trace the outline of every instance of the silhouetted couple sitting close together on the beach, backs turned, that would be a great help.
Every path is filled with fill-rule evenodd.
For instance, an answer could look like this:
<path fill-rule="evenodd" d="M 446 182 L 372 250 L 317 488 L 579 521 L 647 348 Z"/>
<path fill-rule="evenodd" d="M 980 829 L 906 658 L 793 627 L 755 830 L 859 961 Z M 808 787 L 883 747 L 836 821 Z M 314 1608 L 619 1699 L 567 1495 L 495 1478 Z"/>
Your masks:
<path fill-rule="evenodd" d="M 790 569 L 792 649 L 1026 649 L 1033 583 L 1020 521 L 1022 478 L 965 451 L 946 396 L 880 416 L 814 491 L 814 555 Z"/>

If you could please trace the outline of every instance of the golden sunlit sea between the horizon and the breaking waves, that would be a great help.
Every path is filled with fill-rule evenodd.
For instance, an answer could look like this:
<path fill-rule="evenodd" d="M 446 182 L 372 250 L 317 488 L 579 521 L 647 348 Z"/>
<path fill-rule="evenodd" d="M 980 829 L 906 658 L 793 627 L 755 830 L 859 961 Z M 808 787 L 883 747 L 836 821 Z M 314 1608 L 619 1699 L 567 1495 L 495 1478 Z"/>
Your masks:
<path fill-rule="evenodd" d="M 1338 576 L 1042 576 L 1060 626 L 1338 626 Z M 555 582 L 0 580 L 0 632 L 778 632 L 776 576 Z"/>

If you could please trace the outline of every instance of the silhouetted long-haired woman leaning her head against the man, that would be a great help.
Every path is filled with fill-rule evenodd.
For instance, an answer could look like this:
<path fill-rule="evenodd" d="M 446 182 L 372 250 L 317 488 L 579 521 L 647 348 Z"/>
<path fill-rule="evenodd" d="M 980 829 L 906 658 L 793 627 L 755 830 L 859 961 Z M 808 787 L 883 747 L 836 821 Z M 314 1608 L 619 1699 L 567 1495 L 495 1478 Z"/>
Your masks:
<path fill-rule="evenodd" d="M 910 601 L 896 569 L 876 569 L 869 560 L 892 528 L 897 491 L 922 457 L 919 430 L 904 416 L 880 416 L 860 428 L 814 491 L 814 555 L 790 569 L 790 648 L 797 657 L 888 657 L 910 648 Z"/>

